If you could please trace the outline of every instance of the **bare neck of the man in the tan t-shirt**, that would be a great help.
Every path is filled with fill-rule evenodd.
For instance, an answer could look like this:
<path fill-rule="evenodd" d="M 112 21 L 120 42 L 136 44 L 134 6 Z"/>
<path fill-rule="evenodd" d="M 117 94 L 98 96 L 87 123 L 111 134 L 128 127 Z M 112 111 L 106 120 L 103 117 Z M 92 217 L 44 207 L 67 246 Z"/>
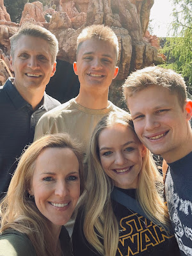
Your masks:
<path fill-rule="evenodd" d="M 98 92 L 81 92 L 76 97 L 76 102 L 84 108 L 104 109 L 108 107 L 108 91 L 104 93 Z"/>

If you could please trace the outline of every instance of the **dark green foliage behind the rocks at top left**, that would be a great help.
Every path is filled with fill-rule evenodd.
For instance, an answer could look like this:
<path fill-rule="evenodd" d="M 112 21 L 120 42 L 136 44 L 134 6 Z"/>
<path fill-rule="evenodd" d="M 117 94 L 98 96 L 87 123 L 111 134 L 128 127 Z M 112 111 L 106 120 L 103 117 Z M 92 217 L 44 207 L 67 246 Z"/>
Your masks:
<path fill-rule="evenodd" d="M 35 0 L 4 0 L 4 6 L 7 12 L 10 14 L 12 22 L 20 22 L 22 11 L 26 3 L 33 3 Z M 45 6 L 49 4 L 51 0 L 40 0 L 40 2 Z"/>

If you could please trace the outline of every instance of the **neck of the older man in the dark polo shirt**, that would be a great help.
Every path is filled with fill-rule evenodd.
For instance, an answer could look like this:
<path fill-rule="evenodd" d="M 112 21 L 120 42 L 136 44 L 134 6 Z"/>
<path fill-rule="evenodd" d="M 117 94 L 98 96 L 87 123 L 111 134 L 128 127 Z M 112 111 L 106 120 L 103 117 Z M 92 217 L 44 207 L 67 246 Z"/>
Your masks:
<path fill-rule="evenodd" d="M 24 86 L 20 86 L 15 80 L 13 81 L 13 85 L 15 86 L 19 94 L 23 97 L 23 99 L 31 104 L 34 110 L 38 108 L 38 105 L 44 97 L 45 88 L 27 88 Z"/>

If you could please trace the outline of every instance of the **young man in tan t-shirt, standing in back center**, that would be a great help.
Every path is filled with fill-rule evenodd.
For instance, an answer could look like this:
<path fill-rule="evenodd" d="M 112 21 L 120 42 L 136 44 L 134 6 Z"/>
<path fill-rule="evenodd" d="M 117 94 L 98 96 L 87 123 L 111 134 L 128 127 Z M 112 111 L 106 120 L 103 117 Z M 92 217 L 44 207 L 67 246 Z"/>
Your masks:
<path fill-rule="evenodd" d="M 109 86 L 118 74 L 117 58 L 118 39 L 111 28 L 104 25 L 84 28 L 77 38 L 74 62 L 79 94 L 40 118 L 35 140 L 46 132 L 68 132 L 82 143 L 86 154 L 97 122 L 110 111 L 122 111 L 108 100 Z"/>

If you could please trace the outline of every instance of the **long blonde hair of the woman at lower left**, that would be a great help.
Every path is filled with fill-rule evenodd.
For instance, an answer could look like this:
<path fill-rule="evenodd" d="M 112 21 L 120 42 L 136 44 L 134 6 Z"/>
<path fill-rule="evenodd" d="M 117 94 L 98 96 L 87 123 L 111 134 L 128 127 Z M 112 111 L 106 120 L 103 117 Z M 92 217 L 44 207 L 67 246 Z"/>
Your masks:
<path fill-rule="evenodd" d="M 31 240 L 37 256 L 52 256 L 52 233 L 48 220 L 38 211 L 35 200 L 29 198 L 29 189 L 35 161 L 45 148 L 70 148 L 79 161 L 80 193 L 84 190 L 83 161 L 79 145 L 68 134 L 58 133 L 43 136 L 22 154 L 10 182 L 8 192 L 0 204 L 1 228 L 4 232 L 13 228 L 26 234 Z"/>

